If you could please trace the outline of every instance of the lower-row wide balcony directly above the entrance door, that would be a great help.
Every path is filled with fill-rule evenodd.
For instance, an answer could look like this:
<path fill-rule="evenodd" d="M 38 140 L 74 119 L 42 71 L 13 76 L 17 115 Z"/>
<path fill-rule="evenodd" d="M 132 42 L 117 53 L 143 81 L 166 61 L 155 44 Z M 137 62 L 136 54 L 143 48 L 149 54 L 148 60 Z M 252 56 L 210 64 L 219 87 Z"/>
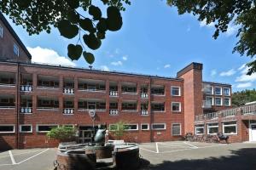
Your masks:
<path fill-rule="evenodd" d="M 106 111 L 103 99 L 79 99 L 79 111 Z"/>

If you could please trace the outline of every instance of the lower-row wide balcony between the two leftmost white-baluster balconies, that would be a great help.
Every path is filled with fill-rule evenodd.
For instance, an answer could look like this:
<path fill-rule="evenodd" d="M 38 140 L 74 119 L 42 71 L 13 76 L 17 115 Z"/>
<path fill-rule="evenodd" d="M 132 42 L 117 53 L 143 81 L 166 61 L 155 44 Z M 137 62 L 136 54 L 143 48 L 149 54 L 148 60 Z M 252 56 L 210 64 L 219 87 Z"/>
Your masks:
<path fill-rule="evenodd" d="M 38 110 L 58 111 L 59 100 L 55 97 L 38 97 Z"/>

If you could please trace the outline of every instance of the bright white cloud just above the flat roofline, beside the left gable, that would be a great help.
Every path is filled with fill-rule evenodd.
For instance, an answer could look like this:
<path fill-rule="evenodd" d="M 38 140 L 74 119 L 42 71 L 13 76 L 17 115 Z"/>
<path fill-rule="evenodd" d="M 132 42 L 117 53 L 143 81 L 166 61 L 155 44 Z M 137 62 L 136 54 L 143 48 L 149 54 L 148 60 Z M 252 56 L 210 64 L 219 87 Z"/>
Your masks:
<path fill-rule="evenodd" d="M 32 61 L 38 63 L 47 63 L 54 65 L 67 65 L 67 66 L 75 66 L 71 60 L 67 59 L 64 56 L 61 56 L 55 52 L 53 49 L 49 48 L 30 48 L 27 47 L 30 54 L 32 54 Z"/>

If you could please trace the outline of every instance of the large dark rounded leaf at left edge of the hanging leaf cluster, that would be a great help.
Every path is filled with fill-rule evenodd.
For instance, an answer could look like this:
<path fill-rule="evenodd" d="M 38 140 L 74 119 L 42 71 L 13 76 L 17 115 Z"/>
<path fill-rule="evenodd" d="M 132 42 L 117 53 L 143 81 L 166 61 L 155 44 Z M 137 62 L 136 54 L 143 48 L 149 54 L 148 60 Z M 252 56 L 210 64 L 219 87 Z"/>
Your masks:
<path fill-rule="evenodd" d="M 58 23 L 58 29 L 61 36 L 67 37 L 69 39 L 76 37 L 79 33 L 79 27 L 71 24 L 68 20 L 61 20 Z"/>

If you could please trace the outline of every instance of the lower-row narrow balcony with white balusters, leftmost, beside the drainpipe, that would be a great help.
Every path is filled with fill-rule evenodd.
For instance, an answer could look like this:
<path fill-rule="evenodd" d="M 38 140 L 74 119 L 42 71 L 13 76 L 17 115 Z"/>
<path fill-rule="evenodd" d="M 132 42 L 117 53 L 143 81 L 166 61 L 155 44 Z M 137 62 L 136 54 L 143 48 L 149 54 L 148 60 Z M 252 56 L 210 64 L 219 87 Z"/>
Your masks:
<path fill-rule="evenodd" d="M 21 97 L 20 97 L 20 113 L 32 114 L 32 96 L 21 95 Z"/>

